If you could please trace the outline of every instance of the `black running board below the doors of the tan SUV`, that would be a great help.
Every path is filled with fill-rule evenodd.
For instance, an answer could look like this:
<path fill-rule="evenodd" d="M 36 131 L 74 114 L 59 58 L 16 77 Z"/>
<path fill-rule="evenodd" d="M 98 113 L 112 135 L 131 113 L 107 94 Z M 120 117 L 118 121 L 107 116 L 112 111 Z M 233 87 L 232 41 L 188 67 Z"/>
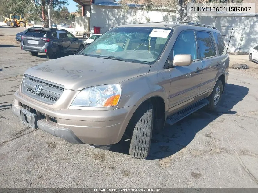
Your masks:
<path fill-rule="evenodd" d="M 205 105 L 208 105 L 208 104 L 209 104 L 209 101 L 207 99 L 202 99 L 201 101 L 194 103 L 193 105 L 168 117 L 166 120 L 166 123 L 169 125 L 173 125 L 176 122 L 180 121 L 181 119 L 184 119 L 186 116 L 190 115 L 191 113 L 194 113 L 195 111 L 201 109 L 202 107 L 204 107 Z"/>

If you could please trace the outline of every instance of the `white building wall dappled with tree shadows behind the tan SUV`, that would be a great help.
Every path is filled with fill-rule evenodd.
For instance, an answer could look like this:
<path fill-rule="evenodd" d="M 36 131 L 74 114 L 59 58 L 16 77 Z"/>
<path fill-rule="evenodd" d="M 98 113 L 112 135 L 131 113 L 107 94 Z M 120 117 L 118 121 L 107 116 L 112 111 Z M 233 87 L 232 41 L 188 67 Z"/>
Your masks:
<path fill-rule="evenodd" d="M 96 26 L 101 27 L 100 33 L 104 33 L 112 27 L 120 25 L 146 23 L 147 18 L 150 19 L 150 22 L 173 21 L 175 20 L 175 13 L 161 11 L 149 11 L 147 13 L 135 8 L 130 8 L 127 13 L 123 13 L 119 6 L 101 6 L 92 4 L 90 31 L 91 33 L 94 33 L 94 26 Z M 234 27 L 232 36 L 237 37 L 231 36 L 229 52 L 249 52 L 251 48 L 258 45 L 258 16 L 200 16 L 190 20 L 213 25 L 220 30 L 222 35 L 230 35 L 231 29 Z M 223 38 L 227 46 L 229 36 L 223 36 Z M 240 43 L 241 46 L 239 46 Z"/>

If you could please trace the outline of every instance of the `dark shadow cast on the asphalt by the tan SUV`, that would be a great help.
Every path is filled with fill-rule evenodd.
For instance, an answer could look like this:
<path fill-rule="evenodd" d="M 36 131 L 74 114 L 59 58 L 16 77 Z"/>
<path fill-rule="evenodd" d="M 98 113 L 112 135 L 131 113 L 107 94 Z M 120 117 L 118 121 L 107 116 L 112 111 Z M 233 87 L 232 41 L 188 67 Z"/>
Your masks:
<path fill-rule="evenodd" d="M 220 106 L 214 112 L 204 108 L 192 113 L 174 125 L 165 125 L 159 134 L 152 135 L 150 154 L 147 159 L 162 159 L 169 157 L 186 147 L 196 133 L 206 127 L 213 120 L 223 114 L 236 114 L 232 111 L 234 105 L 248 94 L 249 89 L 243 86 L 226 84 Z M 117 144 L 112 145 L 110 151 L 129 154 L 130 140 L 123 137 Z"/>

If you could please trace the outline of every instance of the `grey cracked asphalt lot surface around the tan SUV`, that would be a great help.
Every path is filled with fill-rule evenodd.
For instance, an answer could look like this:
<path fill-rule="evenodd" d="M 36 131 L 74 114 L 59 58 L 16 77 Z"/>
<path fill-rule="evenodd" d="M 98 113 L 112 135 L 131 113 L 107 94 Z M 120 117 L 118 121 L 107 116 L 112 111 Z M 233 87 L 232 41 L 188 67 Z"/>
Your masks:
<path fill-rule="evenodd" d="M 15 42 L 19 27 L 0 26 L 0 187 L 258 187 L 258 64 L 230 55 L 223 100 L 153 136 L 148 159 L 70 144 L 33 130 L 13 115 L 13 94 L 26 69 L 47 61 Z"/>

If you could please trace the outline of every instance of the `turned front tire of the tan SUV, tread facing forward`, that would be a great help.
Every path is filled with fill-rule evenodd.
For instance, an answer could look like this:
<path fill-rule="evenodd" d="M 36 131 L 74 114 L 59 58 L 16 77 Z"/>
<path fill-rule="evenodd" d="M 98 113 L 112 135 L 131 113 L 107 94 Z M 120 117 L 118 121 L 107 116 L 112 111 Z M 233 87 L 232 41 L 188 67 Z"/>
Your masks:
<path fill-rule="evenodd" d="M 140 105 L 129 124 L 134 128 L 129 154 L 133 158 L 146 159 L 151 148 L 153 128 L 153 106 L 151 102 L 146 101 Z"/>

